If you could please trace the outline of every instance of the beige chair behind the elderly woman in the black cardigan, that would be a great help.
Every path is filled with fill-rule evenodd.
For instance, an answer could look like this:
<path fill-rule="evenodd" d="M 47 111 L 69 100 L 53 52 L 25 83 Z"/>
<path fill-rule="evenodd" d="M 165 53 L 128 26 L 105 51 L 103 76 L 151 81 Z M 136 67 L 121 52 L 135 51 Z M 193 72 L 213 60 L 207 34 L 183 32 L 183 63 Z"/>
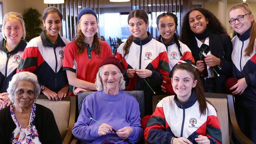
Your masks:
<path fill-rule="evenodd" d="M 54 114 L 62 144 L 69 144 L 72 140 L 72 127 L 75 122 L 76 115 L 76 97 L 67 96 L 61 101 L 48 100 L 45 95 L 39 95 L 36 103 L 50 109 Z"/>

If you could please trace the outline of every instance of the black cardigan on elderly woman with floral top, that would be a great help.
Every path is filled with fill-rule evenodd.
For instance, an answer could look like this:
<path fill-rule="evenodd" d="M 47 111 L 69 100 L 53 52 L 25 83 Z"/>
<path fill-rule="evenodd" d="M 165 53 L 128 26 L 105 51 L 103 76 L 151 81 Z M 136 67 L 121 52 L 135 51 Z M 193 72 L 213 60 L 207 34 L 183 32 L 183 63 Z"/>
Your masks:
<path fill-rule="evenodd" d="M 61 137 L 54 115 L 50 109 L 35 104 L 34 125 L 42 144 L 61 144 Z M 11 133 L 16 128 L 10 114 L 10 106 L 0 110 L 0 143 L 9 144 Z"/>

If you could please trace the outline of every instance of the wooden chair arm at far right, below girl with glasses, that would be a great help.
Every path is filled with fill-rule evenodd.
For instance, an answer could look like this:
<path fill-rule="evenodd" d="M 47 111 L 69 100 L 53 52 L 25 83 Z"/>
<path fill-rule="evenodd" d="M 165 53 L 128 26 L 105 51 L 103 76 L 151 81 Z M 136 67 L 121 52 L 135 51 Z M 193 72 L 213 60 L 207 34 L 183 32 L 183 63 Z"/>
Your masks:
<path fill-rule="evenodd" d="M 242 133 L 241 129 L 238 126 L 235 109 L 234 109 L 234 97 L 232 95 L 228 95 L 228 112 L 229 112 L 229 120 L 231 123 L 230 125 L 232 128 L 232 132 L 234 133 L 236 139 L 241 144 L 254 144 L 249 138 L 247 138 Z"/>

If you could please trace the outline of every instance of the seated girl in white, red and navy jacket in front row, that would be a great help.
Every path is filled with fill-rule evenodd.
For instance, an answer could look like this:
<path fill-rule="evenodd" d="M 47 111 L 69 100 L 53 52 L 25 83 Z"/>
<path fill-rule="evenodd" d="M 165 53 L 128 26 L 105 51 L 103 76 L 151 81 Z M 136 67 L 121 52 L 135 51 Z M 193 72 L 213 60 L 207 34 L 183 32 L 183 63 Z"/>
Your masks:
<path fill-rule="evenodd" d="M 217 113 L 204 97 L 197 68 L 189 63 L 174 67 L 175 95 L 163 98 L 145 129 L 149 144 L 221 144 Z"/>

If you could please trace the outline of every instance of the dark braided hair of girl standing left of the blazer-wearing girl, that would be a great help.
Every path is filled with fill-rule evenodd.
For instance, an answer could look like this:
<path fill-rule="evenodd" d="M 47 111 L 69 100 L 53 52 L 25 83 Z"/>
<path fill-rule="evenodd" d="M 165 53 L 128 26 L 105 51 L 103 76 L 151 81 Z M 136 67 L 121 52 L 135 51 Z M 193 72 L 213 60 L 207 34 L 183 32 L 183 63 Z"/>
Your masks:
<path fill-rule="evenodd" d="M 177 31 L 177 26 L 178 26 L 178 18 L 176 15 L 174 15 L 173 13 L 171 12 L 167 12 L 167 13 L 162 13 L 161 15 L 158 15 L 158 17 L 156 18 L 156 25 L 157 25 L 157 28 L 159 30 L 159 27 L 158 27 L 158 24 L 159 24 L 159 20 L 161 17 L 164 17 L 164 16 L 170 16 L 174 19 L 174 22 L 175 22 L 175 28 L 176 28 L 176 31 Z M 178 36 L 176 35 L 176 33 L 174 33 L 173 35 L 174 39 L 175 39 L 175 43 L 177 44 L 178 46 L 178 50 L 180 52 L 180 56 L 183 56 L 182 52 L 180 51 L 180 43 L 179 43 L 179 38 Z M 158 41 L 161 42 L 161 35 L 160 37 L 158 38 Z"/>

